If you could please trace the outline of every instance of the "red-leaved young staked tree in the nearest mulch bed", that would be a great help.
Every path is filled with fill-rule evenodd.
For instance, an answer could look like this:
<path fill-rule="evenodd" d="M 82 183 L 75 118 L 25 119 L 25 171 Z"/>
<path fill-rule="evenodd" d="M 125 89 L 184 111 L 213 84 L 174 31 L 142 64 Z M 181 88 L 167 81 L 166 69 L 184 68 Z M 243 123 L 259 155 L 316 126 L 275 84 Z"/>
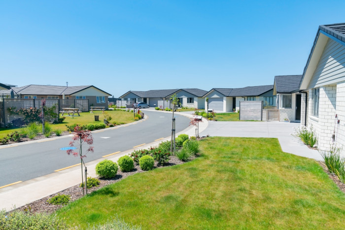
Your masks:
<path fill-rule="evenodd" d="M 83 178 L 83 158 L 86 157 L 86 155 L 83 155 L 82 152 L 82 146 L 84 143 L 86 143 L 87 145 L 89 145 L 89 148 L 86 150 L 86 153 L 88 152 L 94 152 L 94 147 L 90 146 L 92 145 L 94 142 L 94 139 L 91 135 L 91 132 L 88 130 L 83 130 L 81 127 L 79 127 L 78 125 L 74 127 L 74 135 L 72 137 L 72 140 L 69 142 L 69 146 L 73 147 L 74 144 L 76 143 L 79 146 L 79 152 L 75 152 L 73 149 L 69 149 L 67 150 L 67 154 L 73 154 L 74 157 L 79 156 L 80 157 L 80 163 L 81 163 L 81 183 L 84 183 L 84 178 Z M 85 164 L 84 164 L 85 166 Z M 86 168 L 86 167 L 85 167 Z M 86 179 L 86 178 L 85 178 Z M 85 186 L 86 186 L 86 182 L 85 182 Z M 83 194 L 84 194 L 84 190 L 83 190 Z"/>

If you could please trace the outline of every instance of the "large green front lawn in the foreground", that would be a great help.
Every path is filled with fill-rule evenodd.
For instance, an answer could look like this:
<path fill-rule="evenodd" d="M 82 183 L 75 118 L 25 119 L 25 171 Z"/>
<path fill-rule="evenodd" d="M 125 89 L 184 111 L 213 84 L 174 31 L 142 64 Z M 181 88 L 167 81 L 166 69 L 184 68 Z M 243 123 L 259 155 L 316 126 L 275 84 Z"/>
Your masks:
<path fill-rule="evenodd" d="M 209 137 L 202 157 L 138 173 L 58 210 L 69 225 L 114 215 L 142 229 L 344 229 L 345 196 L 274 138 Z"/>

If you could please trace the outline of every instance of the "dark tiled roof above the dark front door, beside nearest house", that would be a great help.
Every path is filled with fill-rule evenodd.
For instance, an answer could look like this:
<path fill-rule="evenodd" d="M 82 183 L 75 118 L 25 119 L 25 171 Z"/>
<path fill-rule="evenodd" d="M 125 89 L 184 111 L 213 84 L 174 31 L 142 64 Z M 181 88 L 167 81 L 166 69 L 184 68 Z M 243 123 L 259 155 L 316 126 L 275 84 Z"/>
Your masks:
<path fill-rule="evenodd" d="M 276 92 L 278 94 L 290 94 L 299 90 L 302 75 L 275 76 Z"/>

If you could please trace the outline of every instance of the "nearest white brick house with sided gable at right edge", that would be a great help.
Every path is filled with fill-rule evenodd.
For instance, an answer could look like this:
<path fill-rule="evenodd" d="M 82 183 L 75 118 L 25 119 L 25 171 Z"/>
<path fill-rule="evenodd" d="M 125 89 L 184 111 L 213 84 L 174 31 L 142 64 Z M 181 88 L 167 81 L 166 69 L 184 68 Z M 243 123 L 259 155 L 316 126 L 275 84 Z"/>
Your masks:
<path fill-rule="evenodd" d="M 313 126 L 318 147 L 321 150 L 329 148 L 333 134 L 334 141 L 344 146 L 345 23 L 319 26 L 300 90 L 305 92 L 302 94 L 301 124 Z"/>

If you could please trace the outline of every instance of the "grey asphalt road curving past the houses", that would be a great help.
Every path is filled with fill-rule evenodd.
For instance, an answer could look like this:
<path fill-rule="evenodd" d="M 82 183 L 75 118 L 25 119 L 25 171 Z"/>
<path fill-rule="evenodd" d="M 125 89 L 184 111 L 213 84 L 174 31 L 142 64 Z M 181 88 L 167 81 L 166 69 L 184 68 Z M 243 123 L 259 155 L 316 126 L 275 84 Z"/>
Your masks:
<path fill-rule="evenodd" d="M 115 152 L 151 143 L 171 135 L 172 114 L 143 109 L 148 119 L 118 129 L 94 132 L 94 153 L 87 153 L 84 162 L 90 162 Z M 176 114 L 176 132 L 188 127 L 190 120 Z M 67 155 L 62 147 L 69 147 L 71 136 L 0 149 L 0 187 L 17 181 L 26 181 L 53 173 L 55 170 L 80 163 L 78 157 Z M 84 146 L 87 149 L 87 145 Z"/>

